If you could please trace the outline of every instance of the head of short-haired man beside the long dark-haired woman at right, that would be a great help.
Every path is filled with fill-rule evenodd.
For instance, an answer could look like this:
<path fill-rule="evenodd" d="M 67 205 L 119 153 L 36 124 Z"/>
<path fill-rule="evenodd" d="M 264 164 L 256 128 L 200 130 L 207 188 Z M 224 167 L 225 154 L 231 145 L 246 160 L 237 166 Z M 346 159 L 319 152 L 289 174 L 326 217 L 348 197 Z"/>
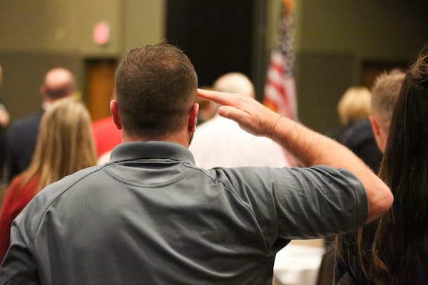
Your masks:
<path fill-rule="evenodd" d="M 392 111 L 404 77 L 405 74 L 402 71 L 393 69 L 377 77 L 372 88 L 371 113 L 385 132 L 389 129 Z"/>

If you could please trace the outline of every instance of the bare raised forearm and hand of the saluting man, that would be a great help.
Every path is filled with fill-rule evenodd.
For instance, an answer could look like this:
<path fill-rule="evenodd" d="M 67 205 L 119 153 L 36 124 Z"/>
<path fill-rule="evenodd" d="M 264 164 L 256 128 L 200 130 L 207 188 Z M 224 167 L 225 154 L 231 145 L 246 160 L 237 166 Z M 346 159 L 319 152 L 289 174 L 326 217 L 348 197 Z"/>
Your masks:
<path fill-rule="evenodd" d="M 304 165 L 329 165 L 352 172 L 365 186 L 369 208 L 367 222 L 381 216 L 391 206 L 393 196 L 387 185 L 360 158 L 335 140 L 281 117 L 245 95 L 201 89 L 198 95 L 222 105 L 219 115 L 235 120 L 248 133 L 272 138 Z"/>

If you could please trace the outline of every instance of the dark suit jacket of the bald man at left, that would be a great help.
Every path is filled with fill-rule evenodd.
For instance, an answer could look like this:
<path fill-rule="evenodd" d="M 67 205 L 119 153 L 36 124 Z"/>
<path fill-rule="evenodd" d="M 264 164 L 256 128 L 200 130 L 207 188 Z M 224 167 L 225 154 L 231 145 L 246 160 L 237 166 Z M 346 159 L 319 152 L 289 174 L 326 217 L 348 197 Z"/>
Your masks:
<path fill-rule="evenodd" d="M 9 182 L 30 165 L 43 113 L 44 111 L 40 110 L 34 115 L 17 120 L 10 130 L 6 158 Z"/>

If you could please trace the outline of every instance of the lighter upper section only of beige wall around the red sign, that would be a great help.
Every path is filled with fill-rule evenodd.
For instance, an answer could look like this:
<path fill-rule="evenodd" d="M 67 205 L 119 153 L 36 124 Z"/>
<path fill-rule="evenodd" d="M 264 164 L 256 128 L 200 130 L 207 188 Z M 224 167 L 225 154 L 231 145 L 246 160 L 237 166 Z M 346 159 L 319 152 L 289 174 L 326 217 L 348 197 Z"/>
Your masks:
<path fill-rule="evenodd" d="M 120 56 L 135 46 L 162 41 L 164 0 L 0 1 L 0 52 Z M 93 26 L 105 21 L 111 40 L 93 43 Z"/>

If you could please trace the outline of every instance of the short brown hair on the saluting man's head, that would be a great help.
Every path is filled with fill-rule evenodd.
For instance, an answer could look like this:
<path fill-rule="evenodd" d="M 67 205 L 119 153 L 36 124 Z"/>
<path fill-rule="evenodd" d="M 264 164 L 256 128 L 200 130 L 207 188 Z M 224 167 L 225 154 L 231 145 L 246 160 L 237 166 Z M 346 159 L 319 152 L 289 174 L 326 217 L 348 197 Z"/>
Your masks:
<path fill-rule="evenodd" d="M 138 137 L 173 133 L 186 123 L 198 78 L 189 58 L 160 43 L 135 48 L 116 71 L 116 97 L 123 129 Z"/>

